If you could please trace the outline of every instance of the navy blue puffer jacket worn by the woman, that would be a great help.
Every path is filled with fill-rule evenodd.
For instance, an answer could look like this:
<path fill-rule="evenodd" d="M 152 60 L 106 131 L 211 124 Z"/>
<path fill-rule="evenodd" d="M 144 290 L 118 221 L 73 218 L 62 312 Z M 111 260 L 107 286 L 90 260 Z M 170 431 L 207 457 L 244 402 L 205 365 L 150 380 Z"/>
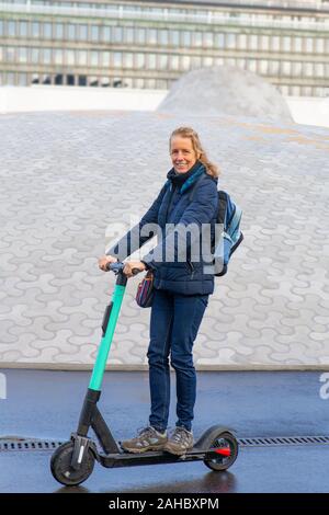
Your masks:
<path fill-rule="evenodd" d="M 183 295 L 212 294 L 214 275 L 207 273 L 204 266 L 209 263 L 211 249 L 207 249 L 207 258 L 204 249 L 201 252 L 201 244 L 198 245 L 200 252 L 196 253 L 195 245 L 192 245 L 192 255 L 191 244 L 195 240 L 201 243 L 203 224 L 211 225 L 208 227 L 212 228 L 212 234 L 214 234 L 218 204 L 217 179 L 208 175 L 200 161 L 194 164 L 192 175 L 181 187 L 173 187 L 170 172 L 168 176 L 169 180 L 139 224 L 106 253 L 123 261 L 155 234 L 156 228 L 151 225 L 157 224 L 159 242 L 141 259 L 155 272 L 155 287 Z M 195 191 L 190 202 L 193 186 Z M 191 224 L 193 231 L 186 238 L 185 228 Z M 196 245 L 196 249 L 198 247 Z"/>

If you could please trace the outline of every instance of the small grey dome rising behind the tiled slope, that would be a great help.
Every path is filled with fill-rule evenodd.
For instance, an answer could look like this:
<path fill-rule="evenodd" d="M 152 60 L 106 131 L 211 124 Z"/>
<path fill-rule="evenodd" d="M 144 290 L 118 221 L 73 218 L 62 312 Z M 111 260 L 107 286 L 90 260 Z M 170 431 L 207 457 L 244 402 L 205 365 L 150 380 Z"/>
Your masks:
<path fill-rule="evenodd" d="M 173 83 L 159 112 L 253 116 L 293 123 L 274 85 L 250 71 L 229 66 L 192 70 Z"/>

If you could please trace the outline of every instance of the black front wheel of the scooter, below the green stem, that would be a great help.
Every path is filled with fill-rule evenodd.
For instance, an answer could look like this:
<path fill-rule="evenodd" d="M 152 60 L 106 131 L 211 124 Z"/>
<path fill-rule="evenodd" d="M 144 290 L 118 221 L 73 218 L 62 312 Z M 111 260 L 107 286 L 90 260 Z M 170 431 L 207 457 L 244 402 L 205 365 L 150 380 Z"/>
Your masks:
<path fill-rule="evenodd" d="M 53 454 L 50 460 L 50 470 L 54 478 L 66 487 L 76 487 L 83 483 L 94 467 L 94 456 L 90 449 L 86 453 L 86 456 L 78 470 L 71 467 L 71 459 L 73 454 L 73 442 L 66 442 L 61 444 Z"/>

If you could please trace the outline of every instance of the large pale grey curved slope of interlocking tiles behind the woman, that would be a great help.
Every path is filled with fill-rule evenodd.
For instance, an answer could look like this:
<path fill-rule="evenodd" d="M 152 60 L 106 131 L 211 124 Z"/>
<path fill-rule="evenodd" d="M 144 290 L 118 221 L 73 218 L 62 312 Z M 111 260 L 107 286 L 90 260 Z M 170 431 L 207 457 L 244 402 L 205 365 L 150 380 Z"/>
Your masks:
<path fill-rule="evenodd" d="M 216 279 L 195 363 L 329 366 L 329 130 L 252 118 L 92 112 L 0 117 L 2 364 L 93 362 L 114 277 L 105 230 L 143 215 L 170 168 L 168 137 L 198 130 L 243 209 L 245 241 Z M 128 282 L 109 363 L 146 364 L 149 310 Z"/>

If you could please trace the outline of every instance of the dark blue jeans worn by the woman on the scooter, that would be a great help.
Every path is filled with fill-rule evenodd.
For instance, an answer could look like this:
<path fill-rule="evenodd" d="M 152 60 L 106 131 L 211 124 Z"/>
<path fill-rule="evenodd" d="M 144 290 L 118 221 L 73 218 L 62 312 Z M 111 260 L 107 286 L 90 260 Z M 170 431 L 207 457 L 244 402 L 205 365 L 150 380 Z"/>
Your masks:
<path fill-rule="evenodd" d="M 163 432 L 170 404 L 169 354 L 177 378 L 177 426 L 191 431 L 196 397 L 192 347 L 208 295 L 173 294 L 156 289 L 148 347 L 151 413 L 149 424 Z"/>

